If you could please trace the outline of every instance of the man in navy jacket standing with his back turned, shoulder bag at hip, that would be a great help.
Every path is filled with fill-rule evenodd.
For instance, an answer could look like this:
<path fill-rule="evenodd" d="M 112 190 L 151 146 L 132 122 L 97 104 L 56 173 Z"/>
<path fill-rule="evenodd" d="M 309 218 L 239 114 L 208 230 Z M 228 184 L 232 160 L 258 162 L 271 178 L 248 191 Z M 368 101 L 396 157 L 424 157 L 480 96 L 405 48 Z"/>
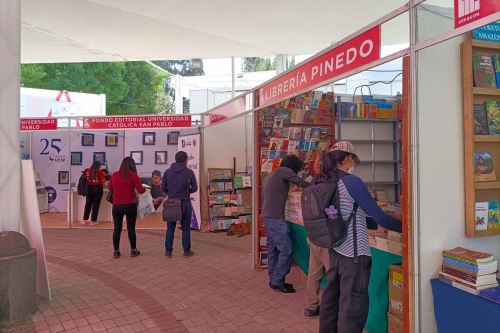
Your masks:
<path fill-rule="evenodd" d="M 173 163 L 163 174 L 161 190 L 167 194 L 168 199 L 181 199 L 182 201 L 182 247 L 184 257 L 190 257 L 194 253 L 191 251 L 191 193 L 198 191 L 196 178 L 193 170 L 187 167 L 187 154 L 185 151 L 178 151 L 175 154 L 175 163 Z M 175 224 L 177 221 L 167 222 L 167 234 L 165 239 L 165 255 L 172 257 Z"/>

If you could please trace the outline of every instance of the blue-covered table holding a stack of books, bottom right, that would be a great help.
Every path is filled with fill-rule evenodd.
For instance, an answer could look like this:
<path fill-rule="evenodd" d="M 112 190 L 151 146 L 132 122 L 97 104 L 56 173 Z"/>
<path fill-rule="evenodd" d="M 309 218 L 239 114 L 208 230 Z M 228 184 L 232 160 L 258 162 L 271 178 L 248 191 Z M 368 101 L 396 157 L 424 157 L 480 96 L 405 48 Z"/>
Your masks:
<path fill-rule="evenodd" d="M 439 278 L 431 281 L 439 332 L 500 332 L 497 266 L 487 253 L 443 251 Z"/>

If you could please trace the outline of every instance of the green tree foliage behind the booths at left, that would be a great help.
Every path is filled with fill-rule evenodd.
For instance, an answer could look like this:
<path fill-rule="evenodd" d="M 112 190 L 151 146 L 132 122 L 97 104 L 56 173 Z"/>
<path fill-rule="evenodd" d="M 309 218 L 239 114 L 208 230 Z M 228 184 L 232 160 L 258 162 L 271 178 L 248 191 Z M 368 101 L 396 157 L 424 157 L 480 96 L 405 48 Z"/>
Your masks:
<path fill-rule="evenodd" d="M 29 88 L 106 94 L 106 113 L 155 114 L 172 106 L 164 93 L 168 75 L 145 62 L 24 64 L 21 85 Z M 171 113 L 172 109 L 167 109 Z"/>

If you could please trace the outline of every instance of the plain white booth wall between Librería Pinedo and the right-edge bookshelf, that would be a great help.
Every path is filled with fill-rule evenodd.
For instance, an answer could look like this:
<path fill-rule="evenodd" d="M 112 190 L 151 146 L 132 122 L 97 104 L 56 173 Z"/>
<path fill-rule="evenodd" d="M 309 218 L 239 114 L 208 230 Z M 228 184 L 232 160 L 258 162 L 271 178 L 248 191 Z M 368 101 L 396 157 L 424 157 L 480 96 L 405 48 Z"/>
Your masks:
<path fill-rule="evenodd" d="M 436 332 L 430 280 L 437 277 L 443 249 L 463 246 L 500 258 L 499 237 L 465 237 L 464 40 L 456 37 L 417 56 L 421 332 Z"/>

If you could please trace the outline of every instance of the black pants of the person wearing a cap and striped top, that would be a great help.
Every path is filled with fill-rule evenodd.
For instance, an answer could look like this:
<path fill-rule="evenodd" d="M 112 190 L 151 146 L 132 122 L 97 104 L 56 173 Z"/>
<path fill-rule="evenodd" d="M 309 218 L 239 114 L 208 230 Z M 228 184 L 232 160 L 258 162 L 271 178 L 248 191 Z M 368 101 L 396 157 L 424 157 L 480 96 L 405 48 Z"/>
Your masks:
<path fill-rule="evenodd" d="M 368 283 L 372 259 L 359 256 L 354 263 L 330 250 L 331 267 L 321 298 L 320 333 L 361 333 L 368 318 Z"/>

